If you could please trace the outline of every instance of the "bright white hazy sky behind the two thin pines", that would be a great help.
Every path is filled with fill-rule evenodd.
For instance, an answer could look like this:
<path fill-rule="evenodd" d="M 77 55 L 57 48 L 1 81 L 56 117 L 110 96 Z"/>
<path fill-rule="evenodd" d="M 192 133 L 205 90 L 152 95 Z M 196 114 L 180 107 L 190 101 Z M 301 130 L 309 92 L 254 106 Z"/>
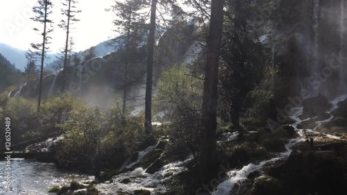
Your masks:
<path fill-rule="evenodd" d="M 76 42 L 75 51 L 88 49 L 115 36 L 115 32 L 112 31 L 115 29 L 112 26 L 112 18 L 115 14 L 105 12 L 105 8 L 110 8 L 112 1 L 79 0 L 77 6 L 82 12 L 78 15 L 78 19 L 81 21 L 74 25 L 76 29 L 71 30 L 71 35 Z M 66 33 L 56 26 L 64 17 L 60 13 L 60 2 L 60 0 L 53 0 L 51 17 L 55 22 L 55 30 L 51 33 L 53 38 L 51 51 L 53 52 L 57 52 L 65 45 Z M 31 42 L 42 42 L 42 35 L 32 30 L 33 27 L 37 27 L 37 24 L 30 19 L 33 16 L 31 8 L 36 3 L 37 0 L 0 0 L 0 42 L 24 50 L 30 47 Z"/>

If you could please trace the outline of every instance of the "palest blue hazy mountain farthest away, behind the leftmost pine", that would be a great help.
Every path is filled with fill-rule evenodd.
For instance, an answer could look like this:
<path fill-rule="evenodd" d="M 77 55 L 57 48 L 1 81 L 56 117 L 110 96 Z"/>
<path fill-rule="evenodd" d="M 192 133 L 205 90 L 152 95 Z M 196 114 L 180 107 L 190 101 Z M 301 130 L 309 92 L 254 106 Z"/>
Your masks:
<path fill-rule="evenodd" d="M 20 69 L 24 71 L 24 67 L 26 67 L 26 58 L 25 58 L 25 53 L 26 51 L 22 49 L 17 49 L 15 47 L 9 46 L 8 44 L 3 44 L 0 43 L 0 53 L 5 56 L 10 62 L 15 64 L 15 67 L 17 69 Z M 55 59 L 56 53 L 48 53 L 48 57 L 46 59 L 46 65 L 49 63 L 53 62 Z"/>

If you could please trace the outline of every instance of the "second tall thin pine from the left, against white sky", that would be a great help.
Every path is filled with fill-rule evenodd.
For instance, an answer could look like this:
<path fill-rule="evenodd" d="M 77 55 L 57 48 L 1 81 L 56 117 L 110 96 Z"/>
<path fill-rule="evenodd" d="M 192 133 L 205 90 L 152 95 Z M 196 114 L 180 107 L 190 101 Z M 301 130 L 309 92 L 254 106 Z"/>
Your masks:
<path fill-rule="evenodd" d="M 64 50 L 64 66 L 62 71 L 62 92 L 65 90 L 65 82 L 66 82 L 66 68 L 68 63 L 68 53 L 71 53 L 71 50 L 69 51 L 69 33 L 71 24 L 74 24 L 75 22 L 78 22 L 79 19 L 76 19 L 76 14 L 81 12 L 81 10 L 76 10 L 76 3 L 78 1 L 76 0 L 62 0 L 62 5 L 65 6 L 65 9 L 62 9 L 62 15 L 65 15 L 67 17 L 67 20 L 62 19 L 61 24 L 58 26 L 66 31 L 66 43 L 65 43 L 65 50 Z M 71 42 L 70 42 L 71 43 Z"/>

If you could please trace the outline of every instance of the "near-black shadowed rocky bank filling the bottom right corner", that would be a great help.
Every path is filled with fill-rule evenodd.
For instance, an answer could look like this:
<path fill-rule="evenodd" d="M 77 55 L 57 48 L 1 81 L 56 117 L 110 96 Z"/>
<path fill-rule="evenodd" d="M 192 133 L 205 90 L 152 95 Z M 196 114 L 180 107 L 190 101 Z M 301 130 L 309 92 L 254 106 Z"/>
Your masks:
<path fill-rule="evenodd" d="M 347 194 L 346 154 L 337 155 L 329 150 L 293 151 L 287 160 L 267 165 L 264 171 L 267 176 L 255 179 L 252 192 L 266 195 Z"/>

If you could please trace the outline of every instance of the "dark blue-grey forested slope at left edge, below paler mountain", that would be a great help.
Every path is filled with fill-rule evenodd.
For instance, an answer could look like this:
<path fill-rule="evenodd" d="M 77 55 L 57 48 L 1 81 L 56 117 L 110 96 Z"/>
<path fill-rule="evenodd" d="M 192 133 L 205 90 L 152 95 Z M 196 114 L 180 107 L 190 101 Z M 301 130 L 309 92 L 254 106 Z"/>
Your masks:
<path fill-rule="evenodd" d="M 7 87 L 19 85 L 21 78 L 22 72 L 0 53 L 0 94 Z"/>

